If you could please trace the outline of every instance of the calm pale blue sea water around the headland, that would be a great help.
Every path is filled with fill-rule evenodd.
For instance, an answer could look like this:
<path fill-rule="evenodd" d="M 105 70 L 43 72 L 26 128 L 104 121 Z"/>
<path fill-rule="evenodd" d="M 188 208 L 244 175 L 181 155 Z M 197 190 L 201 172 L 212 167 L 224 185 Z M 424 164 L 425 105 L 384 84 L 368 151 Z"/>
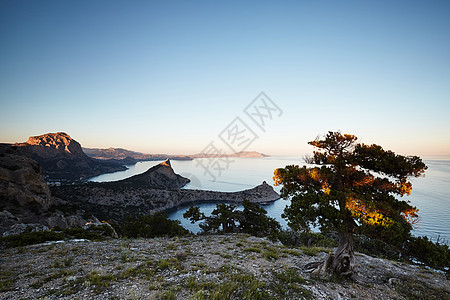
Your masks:
<path fill-rule="evenodd" d="M 428 170 L 425 177 L 412 179 L 413 190 L 411 196 L 405 196 L 405 200 L 419 208 L 420 222 L 414 229 L 415 235 L 426 235 L 434 240 L 440 237 L 441 241 L 450 240 L 450 157 L 428 157 L 424 159 Z M 126 171 L 112 174 L 104 174 L 91 179 L 91 181 L 114 181 L 145 172 L 150 167 L 161 161 L 139 162 L 128 166 Z M 215 180 L 198 165 L 198 160 L 171 161 L 176 173 L 188 177 L 191 182 L 185 187 L 188 189 L 204 189 L 215 191 L 240 191 L 252 188 L 263 181 L 273 184 L 272 176 L 276 168 L 289 164 L 304 165 L 301 158 L 295 157 L 265 157 L 265 158 L 232 158 L 228 169 L 222 171 Z M 274 187 L 279 192 L 280 187 Z M 268 215 L 277 219 L 283 227 L 287 226 L 286 220 L 281 218 L 287 200 L 277 200 L 265 205 Z M 201 211 L 207 215 L 214 209 L 214 203 L 200 205 Z M 169 218 L 180 220 L 183 227 L 198 232 L 198 224 L 191 224 L 183 218 L 183 213 L 188 207 L 180 207 L 169 211 Z"/>

